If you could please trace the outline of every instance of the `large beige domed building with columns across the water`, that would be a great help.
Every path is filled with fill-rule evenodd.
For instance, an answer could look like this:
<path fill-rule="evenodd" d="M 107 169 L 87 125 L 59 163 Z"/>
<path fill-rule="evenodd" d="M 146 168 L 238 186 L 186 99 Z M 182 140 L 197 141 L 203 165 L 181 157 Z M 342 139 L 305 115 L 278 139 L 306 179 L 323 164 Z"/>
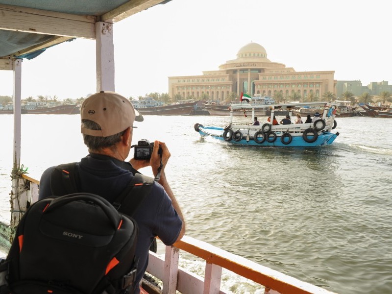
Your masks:
<path fill-rule="evenodd" d="M 231 92 L 275 97 L 277 92 L 289 98 L 294 92 L 302 98 L 309 93 L 321 97 L 325 92 L 336 94 L 334 71 L 296 72 L 283 63 L 272 62 L 267 51 L 257 43 L 242 47 L 237 58 L 228 60 L 218 71 L 202 75 L 170 76 L 169 96 L 200 98 L 204 93 L 212 100 L 225 100 Z"/>

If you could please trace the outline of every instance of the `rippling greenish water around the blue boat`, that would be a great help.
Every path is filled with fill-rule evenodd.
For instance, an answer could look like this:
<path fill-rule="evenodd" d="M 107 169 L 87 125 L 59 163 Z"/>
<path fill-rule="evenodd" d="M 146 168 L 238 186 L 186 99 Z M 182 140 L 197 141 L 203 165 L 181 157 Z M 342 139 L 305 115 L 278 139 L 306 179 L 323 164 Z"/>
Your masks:
<path fill-rule="evenodd" d="M 134 129 L 133 143 L 157 139 L 172 153 L 166 172 L 186 234 L 330 291 L 391 293 L 392 120 L 338 118 L 341 135 L 321 148 L 232 146 L 193 127 L 228 119 L 145 116 Z M 12 116 L 0 123 L 0 218 L 9 221 Z M 23 115 L 22 128 L 21 163 L 34 178 L 87 154 L 78 115 Z M 188 258 L 182 267 L 203 269 Z M 262 293 L 229 273 L 222 284 Z"/>

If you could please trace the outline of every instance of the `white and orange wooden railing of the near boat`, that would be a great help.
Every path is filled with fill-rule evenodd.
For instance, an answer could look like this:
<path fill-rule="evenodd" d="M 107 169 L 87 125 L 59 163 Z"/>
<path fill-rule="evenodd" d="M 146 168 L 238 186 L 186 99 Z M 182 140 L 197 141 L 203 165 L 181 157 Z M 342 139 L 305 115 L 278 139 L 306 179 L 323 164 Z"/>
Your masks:
<path fill-rule="evenodd" d="M 26 176 L 28 199 L 38 199 L 39 181 Z M 204 278 L 180 268 L 180 251 L 205 261 Z M 184 236 L 172 246 L 166 246 L 165 256 L 150 251 L 147 272 L 162 281 L 163 294 L 226 294 L 221 290 L 222 269 L 252 280 L 264 289 L 264 294 L 333 294 L 326 289 L 259 265 L 244 257 L 222 250 L 206 242 Z"/>

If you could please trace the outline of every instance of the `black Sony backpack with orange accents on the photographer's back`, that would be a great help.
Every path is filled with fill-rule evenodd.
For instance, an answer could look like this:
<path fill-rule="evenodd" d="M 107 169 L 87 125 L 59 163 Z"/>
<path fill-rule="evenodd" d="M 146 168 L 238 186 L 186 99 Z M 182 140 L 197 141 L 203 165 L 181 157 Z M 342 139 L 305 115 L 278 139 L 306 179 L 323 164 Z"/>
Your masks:
<path fill-rule="evenodd" d="M 71 191 L 75 171 L 74 163 L 58 166 L 52 187 Z M 138 227 L 121 211 L 133 214 L 153 181 L 136 173 L 113 202 L 116 207 L 89 193 L 31 205 L 0 264 L 0 294 L 132 294 Z"/>

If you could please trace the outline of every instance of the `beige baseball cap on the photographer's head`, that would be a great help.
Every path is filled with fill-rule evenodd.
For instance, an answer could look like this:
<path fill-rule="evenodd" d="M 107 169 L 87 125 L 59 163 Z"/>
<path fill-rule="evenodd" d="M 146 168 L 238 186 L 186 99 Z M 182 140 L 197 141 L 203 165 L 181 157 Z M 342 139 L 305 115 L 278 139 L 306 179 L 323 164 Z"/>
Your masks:
<path fill-rule="evenodd" d="M 143 116 L 132 103 L 116 92 L 100 91 L 86 98 L 80 108 L 80 119 L 98 123 L 100 130 L 85 128 L 80 132 L 94 137 L 108 137 L 122 132 L 133 122 L 143 122 Z"/>

